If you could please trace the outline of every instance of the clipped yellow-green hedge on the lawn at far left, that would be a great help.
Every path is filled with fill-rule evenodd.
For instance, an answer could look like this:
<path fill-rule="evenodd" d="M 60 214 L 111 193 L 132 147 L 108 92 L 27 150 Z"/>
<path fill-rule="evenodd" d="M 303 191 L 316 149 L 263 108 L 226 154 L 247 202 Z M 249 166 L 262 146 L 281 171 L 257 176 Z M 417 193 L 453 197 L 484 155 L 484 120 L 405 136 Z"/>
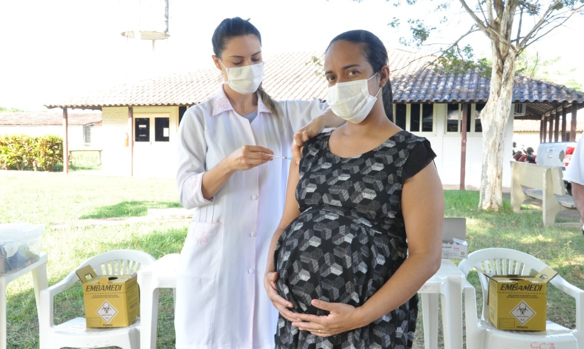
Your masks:
<path fill-rule="evenodd" d="M 63 140 L 54 135 L 30 137 L 27 135 L 0 136 L 0 169 L 50 171 L 62 163 Z"/>

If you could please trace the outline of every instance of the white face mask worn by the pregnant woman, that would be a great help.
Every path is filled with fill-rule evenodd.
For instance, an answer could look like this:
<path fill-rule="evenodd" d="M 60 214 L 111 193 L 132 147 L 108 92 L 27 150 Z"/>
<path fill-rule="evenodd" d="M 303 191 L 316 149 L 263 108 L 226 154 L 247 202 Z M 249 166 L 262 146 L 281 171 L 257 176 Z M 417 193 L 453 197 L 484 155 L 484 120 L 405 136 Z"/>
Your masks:
<path fill-rule="evenodd" d="M 373 74 L 369 79 L 338 82 L 327 88 L 327 101 L 332 112 L 354 124 L 363 121 L 369 115 L 381 91 L 379 88 L 375 96 L 369 94 L 369 81 L 376 75 L 377 73 Z"/>

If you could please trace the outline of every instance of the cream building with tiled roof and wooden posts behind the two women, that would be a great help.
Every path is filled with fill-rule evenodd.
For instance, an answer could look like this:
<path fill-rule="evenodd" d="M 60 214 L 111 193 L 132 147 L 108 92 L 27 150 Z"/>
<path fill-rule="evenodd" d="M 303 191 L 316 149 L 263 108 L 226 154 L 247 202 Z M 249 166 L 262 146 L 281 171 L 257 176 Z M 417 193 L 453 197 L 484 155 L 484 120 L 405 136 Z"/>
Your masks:
<path fill-rule="evenodd" d="M 472 70 L 464 74 L 440 72 L 431 67 L 430 58 L 404 50 L 389 50 L 389 56 L 395 123 L 430 140 L 444 184 L 479 186 L 480 113 L 489 96 L 489 79 Z M 263 87 L 275 99 L 325 100 L 323 59 L 322 53 L 314 52 L 266 54 Z M 566 113 L 575 113 L 584 106 L 584 93 L 563 85 L 524 75 L 518 75 L 515 81 L 515 111 L 508 116 L 504 153 L 511 153 L 515 118 L 540 120 L 541 127 L 549 124 L 546 130 L 551 131 L 560 114 L 565 120 Z M 220 71 L 210 61 L 207 68 L 128 82 L 55 100 L 46 106 L 65 111 L 102 110 L 107 135 L 102 147 L 106 173 L 172 177 L 176 168 L 175 138 L 182 114 L 187 107 L 213 96 L 221 82 Z M 464 124 L 466 132 L 462 131 Z M 140 141 L 138 133 L 147 128 L 148 139 L 155 139 L 156 134 L 165 137 Z M 540 135 L 543 139 L 544 133 Z M 510 183 L 507 167 L 503 166 L 504 186 Z"/>

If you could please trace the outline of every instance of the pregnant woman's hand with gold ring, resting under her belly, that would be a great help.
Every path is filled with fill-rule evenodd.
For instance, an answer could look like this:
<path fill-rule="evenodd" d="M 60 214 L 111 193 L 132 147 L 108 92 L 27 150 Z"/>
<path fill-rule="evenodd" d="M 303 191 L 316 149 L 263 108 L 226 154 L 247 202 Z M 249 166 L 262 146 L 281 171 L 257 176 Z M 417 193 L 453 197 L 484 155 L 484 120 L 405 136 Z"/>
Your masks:
<path fill-rule="evenodd" d="M 311 303 L 316 308 L 328 310 L 329 314 L 318 316 L 296 313 L 295 316 L 301 321 L 293 321 L 292 326 L 303 331 L 310 331 L 319 337 L 329 337 L 367 324 L 360 315 L 360 309 L 352 305 L 329 303 L 319 299 L 312 299 Z"/>

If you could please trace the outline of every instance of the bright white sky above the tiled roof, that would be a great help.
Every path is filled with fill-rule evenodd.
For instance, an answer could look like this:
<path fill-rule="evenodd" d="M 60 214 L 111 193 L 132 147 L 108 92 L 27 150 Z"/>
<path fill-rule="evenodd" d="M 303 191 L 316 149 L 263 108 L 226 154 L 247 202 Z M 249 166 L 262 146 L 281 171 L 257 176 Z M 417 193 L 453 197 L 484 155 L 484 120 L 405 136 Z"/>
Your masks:
<path fill-rule="evenodd" d="M 162 13 L 148 21 L 140 9 L 158 9 L 164 0 L 18 0 L 0 1 L 0 107 L 46 110 L 68 95 L 106 88 L 152 75 L 211 67 L 211 36 L 224 18 L 250 19 L 262 33 L 264 53 L 322 51 L 337 34 L 366 29 L 388 48 L 402 47 L 404 33 L 388 26 L 402 23 L 410 6 L 395 7 L 385 0 L 170 0 L 169 39 L 121 36 L 130 30 L 164 30 Z M 451 20 L 439 41 L 451 41 L 467 30 L 466 15 L 451 10 Z M 458 20 L 457 20 L 458 18 Z M 148 23 L 149 22 L 149 23 Z M 584 21 L 551 34 L 530 50 L 544 59 L 561 56 L 557 71 L 584 83 L 584 68 L 569 39 L 581 37 Z M 482 34 L 472 39 L 475 51 L 489 53 Z M 412 50 L 412 49 L 409 49 Z M 269 64 L 269 62 L 266 62 Z M 575 71 L 570 72 L 575 69 Z"/>

